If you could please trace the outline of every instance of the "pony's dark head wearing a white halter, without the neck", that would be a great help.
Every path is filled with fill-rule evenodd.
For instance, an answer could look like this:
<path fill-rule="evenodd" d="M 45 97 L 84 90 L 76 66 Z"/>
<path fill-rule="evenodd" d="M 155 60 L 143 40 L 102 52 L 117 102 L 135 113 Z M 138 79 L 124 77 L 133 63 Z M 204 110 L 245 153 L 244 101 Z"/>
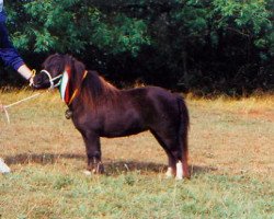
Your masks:
<path fill-rule="evenodd" d="M 55 54 L 42 65 L 43 70 L 33 78 L 35 89 L 54 89 L 59 85 L 69 56 Z"/>

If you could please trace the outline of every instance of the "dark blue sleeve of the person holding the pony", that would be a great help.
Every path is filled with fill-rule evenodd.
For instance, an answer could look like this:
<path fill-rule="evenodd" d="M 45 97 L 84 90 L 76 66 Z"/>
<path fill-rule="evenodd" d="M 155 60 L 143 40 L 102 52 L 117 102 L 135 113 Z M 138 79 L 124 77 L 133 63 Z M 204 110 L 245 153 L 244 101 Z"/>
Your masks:
<path fill-rule="evenodd" d="M 7 66 L 18 70 L 24 64 L 24 61 L 9 39 L 4 21 L 5 14 L 4 11 L 2 11 L 0 12 L 0 58 Z"/>

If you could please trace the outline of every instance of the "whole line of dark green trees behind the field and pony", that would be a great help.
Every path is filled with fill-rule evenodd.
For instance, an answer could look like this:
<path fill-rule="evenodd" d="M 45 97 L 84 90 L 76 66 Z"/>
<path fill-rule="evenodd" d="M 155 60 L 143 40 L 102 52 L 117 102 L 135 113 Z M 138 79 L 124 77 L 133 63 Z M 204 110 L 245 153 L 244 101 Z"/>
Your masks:
<path fill-rule="evenodd" d="M 71 54 L 118 87 L 201 94 L 273 91 L 273 0 L 13 0 L 14 46 L 39 69 Z M 1 84 L 19 77 L 1 65 Z"/>

